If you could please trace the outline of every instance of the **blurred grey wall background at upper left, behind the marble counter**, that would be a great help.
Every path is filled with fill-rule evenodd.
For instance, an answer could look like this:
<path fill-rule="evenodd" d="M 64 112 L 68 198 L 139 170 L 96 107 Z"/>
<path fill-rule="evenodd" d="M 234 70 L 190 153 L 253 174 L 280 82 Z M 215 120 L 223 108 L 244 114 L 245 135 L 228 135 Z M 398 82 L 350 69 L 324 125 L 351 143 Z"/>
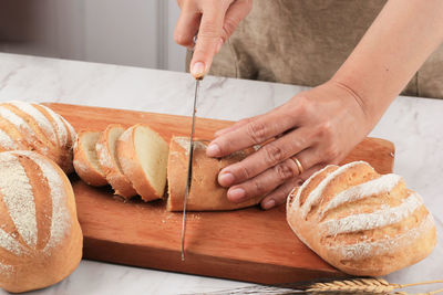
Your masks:
<path fill-rule="evenodd" d="M 175 0 L 0 0 L 0 51 L 185 71 Z"/>

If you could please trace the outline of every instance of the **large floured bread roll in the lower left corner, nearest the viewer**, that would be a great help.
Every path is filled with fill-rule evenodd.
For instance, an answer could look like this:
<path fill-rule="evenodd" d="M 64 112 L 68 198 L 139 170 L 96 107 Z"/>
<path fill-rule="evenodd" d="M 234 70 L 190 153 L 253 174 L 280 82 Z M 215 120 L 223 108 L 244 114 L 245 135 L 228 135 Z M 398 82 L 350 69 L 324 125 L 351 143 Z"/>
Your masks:
<path fill-rule="evenodd" d="M 79 265 L 83 236 L 71 183 L 49 158 L 0 152 L 0 287 L 27 292 Z"/>

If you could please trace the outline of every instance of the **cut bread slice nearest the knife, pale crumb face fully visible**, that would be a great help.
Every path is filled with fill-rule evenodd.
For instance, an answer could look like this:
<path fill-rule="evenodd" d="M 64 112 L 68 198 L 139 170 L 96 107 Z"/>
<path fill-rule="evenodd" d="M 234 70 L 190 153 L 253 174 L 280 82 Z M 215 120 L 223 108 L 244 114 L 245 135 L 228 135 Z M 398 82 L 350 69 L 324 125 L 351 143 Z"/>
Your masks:
<path fill-rule="evenodd" d="M 117 158 L 144 201 L 163 198 L 166 186 L 168 146 L 147 125 L 132 126 L 117 140 Z"/>

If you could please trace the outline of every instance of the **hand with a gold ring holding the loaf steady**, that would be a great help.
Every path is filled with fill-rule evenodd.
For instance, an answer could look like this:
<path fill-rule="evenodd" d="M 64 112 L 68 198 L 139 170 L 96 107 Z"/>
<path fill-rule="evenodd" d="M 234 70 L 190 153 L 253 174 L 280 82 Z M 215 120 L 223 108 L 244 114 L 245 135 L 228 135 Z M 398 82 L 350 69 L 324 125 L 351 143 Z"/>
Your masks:
<path fill-rule="evenodd" d="M 372 129 L 377 118 L 371 117 L 350 88 L 328 82 L 265 115 L 217 131 L 207 155 L 223 157 L 275 138 L 218 176 L 222 186 L 230 187 L 230 201 L 266 196 L 261 207 L 270 209 L 284 203 L 290 190 L 315 171 L 340 162 Z"/>

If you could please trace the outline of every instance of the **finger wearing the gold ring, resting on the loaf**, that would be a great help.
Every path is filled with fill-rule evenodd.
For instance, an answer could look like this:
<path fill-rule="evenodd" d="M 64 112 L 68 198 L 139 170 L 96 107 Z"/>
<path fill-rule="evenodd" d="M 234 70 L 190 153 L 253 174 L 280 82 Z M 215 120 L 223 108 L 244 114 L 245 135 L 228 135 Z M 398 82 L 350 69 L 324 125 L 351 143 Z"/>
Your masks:
<path fill-rule="evenodd" d="M 265 196 L 286 180 L 298 176 L 298 172 L 296 164 L 288 159 L 241 185 L 231 187 L 228 190 L 228 199 L 233 202 L 243 202 L 254 197 Z"/>

